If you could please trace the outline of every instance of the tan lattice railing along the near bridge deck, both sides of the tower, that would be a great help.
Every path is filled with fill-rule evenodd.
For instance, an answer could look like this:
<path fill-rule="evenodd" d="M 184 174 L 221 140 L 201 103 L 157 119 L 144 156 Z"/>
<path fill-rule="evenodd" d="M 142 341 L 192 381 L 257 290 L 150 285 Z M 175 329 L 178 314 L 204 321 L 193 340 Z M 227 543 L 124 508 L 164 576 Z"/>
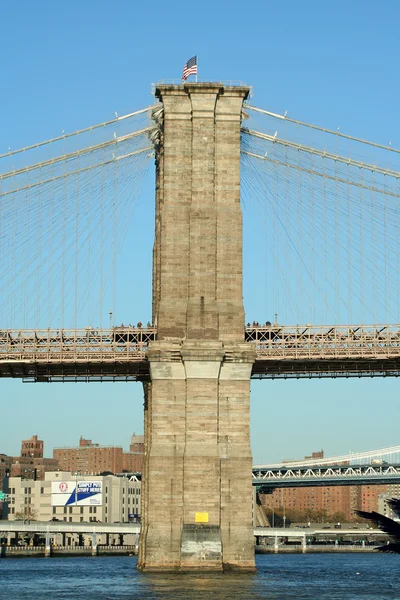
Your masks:
<path fill-rule="evenodd" d="M 0 329 L 0 361 L 142 361 L 155 327 Z M 388 358 L 400 355 L 400 325 L 250 325 L 258 360 Z"/>

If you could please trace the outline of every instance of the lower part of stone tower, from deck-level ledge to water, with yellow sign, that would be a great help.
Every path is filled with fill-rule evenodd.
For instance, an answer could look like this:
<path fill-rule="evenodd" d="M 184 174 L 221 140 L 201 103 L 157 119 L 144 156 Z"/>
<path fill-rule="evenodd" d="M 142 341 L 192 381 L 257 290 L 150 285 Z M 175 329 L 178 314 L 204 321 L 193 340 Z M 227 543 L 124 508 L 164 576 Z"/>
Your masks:
<path fill-rule="evenodd" d="M 172 361 L 171 353 L 181 361 Z M 229 346 L 229 356 L 232 362 L 224 362 L 226 349 L 214 342 L 183 342 L 179 348 L 155 342 L 149 348 L 138 564 L 143 571 L 255 571 L 253 355 L 247 344 L 238 344 Z"/>

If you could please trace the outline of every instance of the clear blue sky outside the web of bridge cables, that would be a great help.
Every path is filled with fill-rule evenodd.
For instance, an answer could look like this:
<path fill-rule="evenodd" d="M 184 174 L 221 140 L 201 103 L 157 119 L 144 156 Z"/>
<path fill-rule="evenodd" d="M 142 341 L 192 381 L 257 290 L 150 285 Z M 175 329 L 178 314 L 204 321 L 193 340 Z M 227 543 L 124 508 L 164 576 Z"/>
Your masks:
<path fill-rule="evenodd" d="M 399 18 L 396 0 L 4 2 L 0 153 L 151 104 L 151 83 L 179 79 L 194 54 L 201 79 L 242 80 L 259 107 L 400 147 Z M 121 321 L 150 317 L 151 194 L 137 216 L 140 285 Z M 248 317 L 262 320 L 256 281 L 245 277 L 244 293 Z M 139 384 L 3 380 L 0 403 L 8 454 L 36 433 L 51 455 L 80 435 L 128 447 L 143 431 Z M 254 382 L 251 407 L 255 463 L 399 443 L 397 380 Z"/>

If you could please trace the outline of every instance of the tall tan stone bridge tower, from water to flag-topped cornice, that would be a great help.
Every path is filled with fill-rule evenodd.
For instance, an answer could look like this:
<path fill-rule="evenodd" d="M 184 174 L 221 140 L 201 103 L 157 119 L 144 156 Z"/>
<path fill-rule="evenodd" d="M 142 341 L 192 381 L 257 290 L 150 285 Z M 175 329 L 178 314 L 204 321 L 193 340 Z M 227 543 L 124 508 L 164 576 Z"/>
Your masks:
<path fill-rule="evenodd" d="M 139 568 L 254 570 L 240 125 L 249 88 L 159 85 Z"/>

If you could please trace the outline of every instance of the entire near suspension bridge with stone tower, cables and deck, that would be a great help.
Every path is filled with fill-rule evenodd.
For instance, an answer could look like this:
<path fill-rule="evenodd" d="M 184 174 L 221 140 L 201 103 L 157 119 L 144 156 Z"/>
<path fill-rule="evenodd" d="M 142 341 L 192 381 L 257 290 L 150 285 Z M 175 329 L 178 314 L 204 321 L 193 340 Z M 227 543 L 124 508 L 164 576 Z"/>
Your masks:
<path fill-rule="evenodd" d="M 161 83 L 147 108 L 0 156 L 0 377 L 142 382 L 143 570 L 254 570 L 252 378 L 400 372 L 400 150 L 249 96 Z M 116 324 L 154 163 L 152 320 Z M 243 210 L 263 232 L 262 322 Z"/>

